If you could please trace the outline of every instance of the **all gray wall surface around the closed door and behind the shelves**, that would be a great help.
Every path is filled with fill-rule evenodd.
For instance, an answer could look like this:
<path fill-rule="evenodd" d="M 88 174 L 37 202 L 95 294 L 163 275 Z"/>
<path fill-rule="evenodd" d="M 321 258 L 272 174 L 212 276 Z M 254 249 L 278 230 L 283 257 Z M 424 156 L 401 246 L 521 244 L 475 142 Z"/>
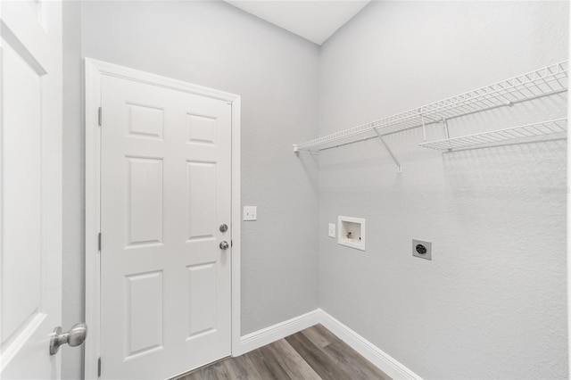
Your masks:
<path fill-rule="evenodd" d="M 218 2 L 65 2 L 64 327 L 84 308 L 87 56 L 243 96 L 243 204 L 259 207 L 243 223 L 243 335 L 320 306 L 426 378 L 566 377 L 564 141 L 438 153 L 411 130 L 387 137 L 401 174 L 370 141 L 321 153 L 319 182 L 291 144 L 318 122 L 325 135 L 567 59 L 567 6 L 374 2 L 319 49 Z M 451 133 L 565 104 L 477 113 Z M 367 252 L 327 237 L 337 215 L 367 219 Z M 411 257 L 412 237 L 434 242 L 432 261 Z M 79 351 L 62 354 L 79 378 Z"/>

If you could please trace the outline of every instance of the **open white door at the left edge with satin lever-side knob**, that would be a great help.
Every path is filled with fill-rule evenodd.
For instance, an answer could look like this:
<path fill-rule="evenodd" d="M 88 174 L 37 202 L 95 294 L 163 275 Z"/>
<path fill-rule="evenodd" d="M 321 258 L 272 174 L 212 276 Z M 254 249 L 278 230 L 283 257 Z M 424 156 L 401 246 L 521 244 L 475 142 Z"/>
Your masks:
<path fill-rule="evenodd" d="M 62 320 L 62 11 L 2 1 L 0 377 L 59 378 Z"/>

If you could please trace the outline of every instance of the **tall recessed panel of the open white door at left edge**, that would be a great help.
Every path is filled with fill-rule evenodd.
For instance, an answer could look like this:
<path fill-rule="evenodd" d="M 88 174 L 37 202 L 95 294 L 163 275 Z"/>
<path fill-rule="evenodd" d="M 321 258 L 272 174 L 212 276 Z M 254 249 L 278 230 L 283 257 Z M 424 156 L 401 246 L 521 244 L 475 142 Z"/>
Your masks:
<path fill-rule="evenodd" d="M 5 254 L 2 262 L 4 344 L 41 312 L 42 86 L 36 70 L 12 46 L 3 47 L 3 137 L 10 142 L 3 145 L 3 252 L 19 252 Z"/>

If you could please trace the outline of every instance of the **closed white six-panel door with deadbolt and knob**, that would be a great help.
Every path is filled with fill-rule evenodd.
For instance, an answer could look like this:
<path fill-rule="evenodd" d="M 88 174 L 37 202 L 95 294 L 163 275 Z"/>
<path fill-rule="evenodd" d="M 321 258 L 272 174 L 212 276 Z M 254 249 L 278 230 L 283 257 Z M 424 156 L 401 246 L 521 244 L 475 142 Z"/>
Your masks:
<path fill-rule="evenodd" d="M 231 104 L 101 87 L 102 377 L 167 378 L 231 351 Z"/>

